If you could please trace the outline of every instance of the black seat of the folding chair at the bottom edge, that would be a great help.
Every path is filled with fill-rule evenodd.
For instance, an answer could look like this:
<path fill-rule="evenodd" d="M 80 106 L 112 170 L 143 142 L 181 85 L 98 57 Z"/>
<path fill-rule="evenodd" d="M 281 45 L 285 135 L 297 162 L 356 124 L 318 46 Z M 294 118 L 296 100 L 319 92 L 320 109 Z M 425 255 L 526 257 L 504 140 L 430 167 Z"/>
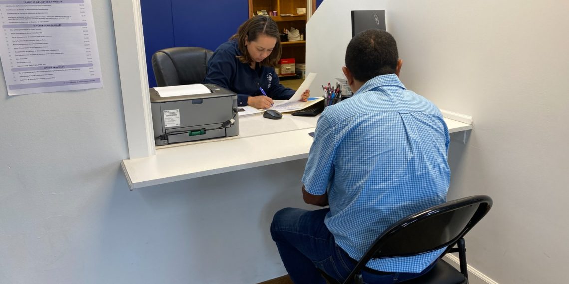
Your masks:
<path fill-rule="evenodd" d="M 452 265 L 444 260 L 436 262 L 435 266 L 429 272 L 421 275 L 420 277 L 403 281 L 400 283 L 405 284 L 467 284 L 468 279 L 464 277 L 459 270 L 456 270 Z"/>

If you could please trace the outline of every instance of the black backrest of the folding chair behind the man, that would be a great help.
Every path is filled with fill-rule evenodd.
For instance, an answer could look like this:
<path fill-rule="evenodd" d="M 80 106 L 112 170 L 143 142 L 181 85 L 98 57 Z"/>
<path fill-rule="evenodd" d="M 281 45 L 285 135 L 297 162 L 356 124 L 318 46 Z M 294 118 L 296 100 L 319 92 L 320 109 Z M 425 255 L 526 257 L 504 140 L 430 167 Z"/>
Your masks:
<path fill-rule="evenodd" d="M 476 195 L 407 216 L 377 237 L 353 272 L 359 272 L 370 258 L 412 256 L 444 247 L 451 249 L 488 213 L 490 207 L 492 198 Z"/>

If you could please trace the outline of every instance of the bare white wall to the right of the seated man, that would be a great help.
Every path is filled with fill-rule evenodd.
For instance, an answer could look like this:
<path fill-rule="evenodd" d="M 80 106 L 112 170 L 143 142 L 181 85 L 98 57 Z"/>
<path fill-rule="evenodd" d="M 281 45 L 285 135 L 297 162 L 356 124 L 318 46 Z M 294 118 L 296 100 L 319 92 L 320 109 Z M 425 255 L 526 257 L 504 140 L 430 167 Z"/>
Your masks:
<path fill-rule="evenodd" d="M 403 83 L 475 122 L 467 144 L 453 141 L 449 153 L 448 198 L 494 199 L 468 234 L 468 263 L 498 283 L 565 282 L 569 2 L 356 3 L 325 0 L 319 7 L 307 27 L 307 70 L 325 81 L 341 74 L 350 11 L 386 9 Z M 347 37 L 336 49 L 311 40 L 333 34 Z"/>

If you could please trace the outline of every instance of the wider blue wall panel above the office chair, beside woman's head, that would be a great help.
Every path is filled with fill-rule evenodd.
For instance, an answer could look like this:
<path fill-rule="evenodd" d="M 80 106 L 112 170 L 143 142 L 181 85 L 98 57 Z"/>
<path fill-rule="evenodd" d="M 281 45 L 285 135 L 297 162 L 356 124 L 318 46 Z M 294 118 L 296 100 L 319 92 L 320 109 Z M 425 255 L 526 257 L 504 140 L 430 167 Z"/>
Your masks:
<path fill-rule="evenodd" d="M 213 51 L 249 18 L 245 0 L 171 1 L 176 47 L 203 47 Z"/>

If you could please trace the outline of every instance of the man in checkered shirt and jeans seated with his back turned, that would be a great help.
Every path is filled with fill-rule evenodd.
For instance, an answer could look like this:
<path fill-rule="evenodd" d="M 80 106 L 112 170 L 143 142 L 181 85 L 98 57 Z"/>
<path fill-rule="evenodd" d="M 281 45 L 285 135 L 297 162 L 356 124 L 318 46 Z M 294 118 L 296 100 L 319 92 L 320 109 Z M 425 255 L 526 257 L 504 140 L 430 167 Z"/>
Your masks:
<path fill-rule="evenodd" d="M 302 178 L 304 201 L 329 208 L 284 208 L 271 224 L 295 283 L 326 283 L 318 269 L 343 281 L 386 228 L 446 202 L 448 129 L 433 103 L 399 81 L 403 61 L 393 37 L 360 33 L 345 61 L 354 95 L 325 108 Z M 372 259 L 362 271 L 364 281 L 418 277 L 442 251 Z"/>

